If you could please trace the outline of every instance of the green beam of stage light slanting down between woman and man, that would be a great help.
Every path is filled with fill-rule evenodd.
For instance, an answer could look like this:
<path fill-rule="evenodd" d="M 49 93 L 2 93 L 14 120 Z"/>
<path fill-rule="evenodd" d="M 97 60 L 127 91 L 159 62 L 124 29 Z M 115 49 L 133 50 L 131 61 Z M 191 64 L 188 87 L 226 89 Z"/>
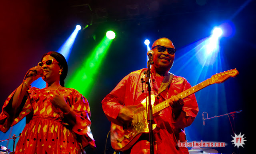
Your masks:
<path fill-rule="evenodd" d="M 87 57 L 84 62 L 82 62 L 81 66 L 77 68 L 74 75 L 68 79 L 67 87 L 78 90 L 78 92 L 86 98 L 90 97 L 90 91 L 94 80 L 96 80 L 99 68 L 106 56 L 111 42 L 112 39 L 108 39 L 106 36 L 102 39 L 89 57 Z"/>

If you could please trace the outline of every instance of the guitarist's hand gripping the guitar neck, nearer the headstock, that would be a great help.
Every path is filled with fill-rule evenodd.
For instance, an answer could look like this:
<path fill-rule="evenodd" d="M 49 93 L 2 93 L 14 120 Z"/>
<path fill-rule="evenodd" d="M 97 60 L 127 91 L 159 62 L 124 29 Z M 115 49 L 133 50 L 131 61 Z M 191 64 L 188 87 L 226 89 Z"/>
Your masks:
<path fill-rule="evenodd" d="M 174 93 L 177 95 L 178 92 L 174 90 Z M 172 96 L 170 99 L 170 106 L 172 107 L 172 113 L 175 115 L 175 119 L 180 115 L 180 112 L 182 111 L 182 107 L 184 105 L 184 101 L 181 97 L 178 96 Z"/>

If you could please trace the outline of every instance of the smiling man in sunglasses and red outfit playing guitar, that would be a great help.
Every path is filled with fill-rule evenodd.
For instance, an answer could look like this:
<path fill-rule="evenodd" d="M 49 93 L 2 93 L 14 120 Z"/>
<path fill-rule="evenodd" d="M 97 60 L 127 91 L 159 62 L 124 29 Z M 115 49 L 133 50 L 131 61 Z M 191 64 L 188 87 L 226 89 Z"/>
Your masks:
<path fill-rule="evenodd" d="M 198 104 L 194 94 L 182 99 L 177 94 L 191 88 L 188 81 L 169 73 L 176 49 L 168 38 L 157 39 L 153 45 L 153 64 L 150 74 L 152 103 L 156 106 L 168 100 L 153 112 L 154 153 L 188 154 L 188 148 L 178 147 L 185 142 L 184 127 L 194 121 Z M 146 84 L 142 82 L 146 68 L 131 72 L 102 100 L 102 108 L 111 121 L 111 145 L 124 154 L 149 154 L 147 117 L 144 114 Z M 151 97 L 151 98 L 152 98 Z M 144 100 L 144 101 L 143 101 Z M 160 108 L 163 109 L 160 109 Z M 159 110 L 158 110 L 159 109 Z M 141 114 L 142 113 L 142 114 Z"/>

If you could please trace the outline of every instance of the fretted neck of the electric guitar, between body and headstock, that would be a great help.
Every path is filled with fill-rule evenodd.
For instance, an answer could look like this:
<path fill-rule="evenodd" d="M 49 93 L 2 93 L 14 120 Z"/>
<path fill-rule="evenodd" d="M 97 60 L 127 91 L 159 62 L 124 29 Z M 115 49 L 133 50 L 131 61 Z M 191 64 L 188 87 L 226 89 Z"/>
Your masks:
<path fill-rule="evenodd" d="M 196 86 L 193 86 L 193 87 L 181 92 L 180 94 L 177 94 L 177 97 L 181 97 L 182 99 L 184 99 L 211 84 L 212 84 L 211 80 L 207 79 L 207 80 L 197 84 Z M 170 102 L 170 99 L 167 99 L 167 100 L 163 101 L 162 103 L 155 105 L 154 107 L 152 107 L 152 113 L 153 114 L 157 113 L 157 112 L 161 111 L 162 109 L 165 109 L 166 107 L 170 106 L 169 102 Z"/>

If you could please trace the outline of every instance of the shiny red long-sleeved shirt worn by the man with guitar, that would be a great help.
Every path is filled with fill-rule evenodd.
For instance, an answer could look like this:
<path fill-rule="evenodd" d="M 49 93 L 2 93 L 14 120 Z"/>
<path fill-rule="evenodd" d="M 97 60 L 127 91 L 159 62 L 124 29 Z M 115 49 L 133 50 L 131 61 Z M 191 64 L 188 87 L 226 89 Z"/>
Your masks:
<path fill-rule="evenodd" d="M 125 76 L 118 85 L 102 100 L 102 108 L 106 117 L 115 122 L 118 113 L 126 105 L 138 105 L 146 98 L 145 83 L 142 84 L 141 78 L 145 80 L 143 71 L 146 69 L 131 72 Z M 158 90 L 164 77 L 156 76 L 151 73 L 151 94 L 158 95 Z M 155 104 L 174 96 L 174 90 L 178 93 L 190 88 L 187 80 L 180 76 L 174 76 L 171 84 L 161 93 Z M 198 113 L 198 104 L 194 94 L 186 97 L 184 106 L 178 117 L 173 116 L 172 107 L 167 107 L 159 113 L 153 115 L 154 123 L 157 124 L 154 132 L 154 153 L 157 154 L 188 154 L 188 148 L 178 147 L 178 140 L 185 142 L 186 135 L 184 128 L 194 121 Z M 150 143 L 148 140 L 139 140 L 129 150 L 131 154 L 149 154 Z"/>

